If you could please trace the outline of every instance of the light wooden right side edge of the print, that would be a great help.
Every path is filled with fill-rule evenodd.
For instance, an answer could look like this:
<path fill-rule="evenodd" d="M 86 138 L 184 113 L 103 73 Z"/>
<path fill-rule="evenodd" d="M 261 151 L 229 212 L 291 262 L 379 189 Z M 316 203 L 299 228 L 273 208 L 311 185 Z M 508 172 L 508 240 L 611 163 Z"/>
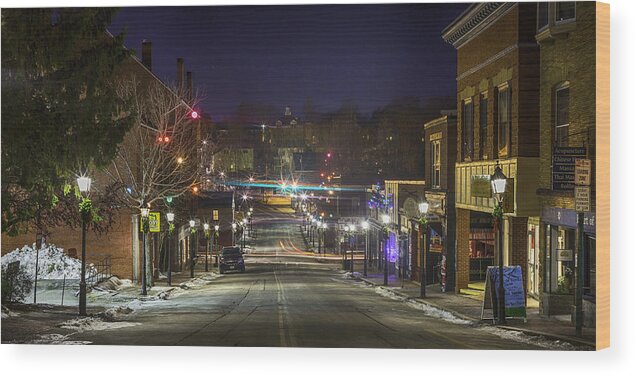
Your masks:
<path fill-rule="evenodd" d="M 596 2 L 596 350 L 610 346 L 610 6 Z M 598 189 L 601 187 L 601 189 Z"/>

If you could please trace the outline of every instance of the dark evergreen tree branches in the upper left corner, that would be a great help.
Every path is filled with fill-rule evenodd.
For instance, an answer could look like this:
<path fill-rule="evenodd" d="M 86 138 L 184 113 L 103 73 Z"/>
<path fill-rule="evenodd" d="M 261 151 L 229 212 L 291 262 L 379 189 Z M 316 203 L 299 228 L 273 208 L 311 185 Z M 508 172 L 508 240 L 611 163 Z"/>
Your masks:
<path fill-rule="evenodd" d="M 130 129 L 112 82 L 129 54 L 106 31 L 114 14 L 2 10 L 3 232 L 45 228 L 64 187 L 107 165 Z"/>

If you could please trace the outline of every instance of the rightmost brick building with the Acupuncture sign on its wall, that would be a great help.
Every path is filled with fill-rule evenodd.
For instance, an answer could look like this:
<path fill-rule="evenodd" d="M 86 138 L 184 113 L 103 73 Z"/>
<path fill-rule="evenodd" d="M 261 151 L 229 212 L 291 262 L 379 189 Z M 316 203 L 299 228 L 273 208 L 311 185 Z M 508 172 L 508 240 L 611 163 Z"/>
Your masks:
<path fill-rule="evenodd" d="M 569 314 L 574 304 L 576 212 L 575 158 L 591 160 L 595 176 L 595 2 L 539 3 L 535 38 L 540 45 L 540 223 L 529 234 L 537 267 L 529 293 L 541 296 L 541 312 Z M 595 179 L 584 213 L 585 323 L 595 318 Z M 539 262 L 539 263 L 538 263 Z M 530 270 L 531 271 L 531 270 Z M 532 273 L 532 274 L 533 274 Z"/>

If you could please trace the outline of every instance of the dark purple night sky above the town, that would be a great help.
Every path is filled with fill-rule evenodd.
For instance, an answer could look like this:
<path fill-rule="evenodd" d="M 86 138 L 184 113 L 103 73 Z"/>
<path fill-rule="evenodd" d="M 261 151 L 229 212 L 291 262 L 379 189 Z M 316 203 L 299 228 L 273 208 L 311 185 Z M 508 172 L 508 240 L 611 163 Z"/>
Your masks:
<path fill-rule="evenodd" d="M 368 114 L 392 99 L 453 95 L 456 52 L 441 31 L 466 4 L 128 7 L 110 31 L 127 28 L 141 55 L 152 41 L 153 71 L 176 80 L 176 58 L 204 93 L 214 120 L 242 101 L 301 115 L 352 101 Z"/>

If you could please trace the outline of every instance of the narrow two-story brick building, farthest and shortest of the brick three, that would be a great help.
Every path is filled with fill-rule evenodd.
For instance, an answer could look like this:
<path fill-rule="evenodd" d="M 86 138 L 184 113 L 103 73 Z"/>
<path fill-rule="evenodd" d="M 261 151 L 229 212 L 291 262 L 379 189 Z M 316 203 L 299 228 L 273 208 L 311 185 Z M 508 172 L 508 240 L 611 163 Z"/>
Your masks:
<path fill-rule="evenodd" d="M 442 278 L 444 291 L 454 291 L 455 281 L 455 233 L 456 208 L 454 184 L 456 164 L 456 111 L 427 122 L 425 150 L 427 152 L 425 196 L 429 204 L 428 226 L 430 247 L 427 257 L 427 279 L 432 282 L 434 266 L 438 263 L 445 273 Z M 420 238 L 419 238 L 420 243 Z M 417 247 L 421 249 L 421 247 Z M 414 269 L 414 267 L 413 267 Z"/>

